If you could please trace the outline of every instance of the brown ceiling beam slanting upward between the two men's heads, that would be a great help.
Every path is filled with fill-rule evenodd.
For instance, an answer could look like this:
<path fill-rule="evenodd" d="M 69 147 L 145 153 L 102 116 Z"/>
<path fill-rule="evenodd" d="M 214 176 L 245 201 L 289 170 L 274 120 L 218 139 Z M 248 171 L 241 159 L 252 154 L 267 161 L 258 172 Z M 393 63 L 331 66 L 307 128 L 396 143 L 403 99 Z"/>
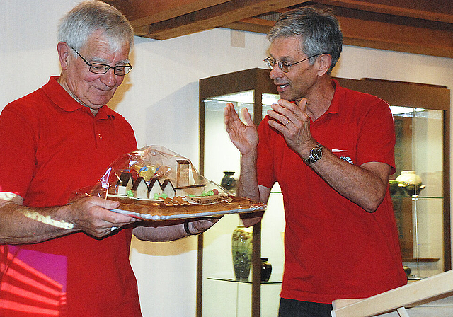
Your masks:
<path fill-rule="evenodd" d="M 251 16 L 259 16 L 270 11 L 287 8 L 306 1 L 301 0 L 231 0 L 195 12 L 184 14 L 170 20 L 161 21 L 140 28 L 147 38 L 165 40 L 180 35 L 210 30 L 221 25 L 240 21 Z"/>

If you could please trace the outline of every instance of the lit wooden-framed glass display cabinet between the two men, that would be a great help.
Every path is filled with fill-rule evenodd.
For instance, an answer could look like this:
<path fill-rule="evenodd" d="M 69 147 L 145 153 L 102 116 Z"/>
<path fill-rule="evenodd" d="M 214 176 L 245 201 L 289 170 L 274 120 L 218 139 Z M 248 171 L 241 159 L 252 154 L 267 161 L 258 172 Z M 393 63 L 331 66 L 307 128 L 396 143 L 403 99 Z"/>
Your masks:
<path fill-rule="evenodd" d="M 278 100 L 267 69 L 247 69 L 200 80 L 200 172 L 221 183 L 234 172 L 239 177 L 239 151 L 230 142 L 224 129 L 223 111 L 226 103 L 234 103 L 236 111 L 246 107 L 256 125 L 270 105 Z M 234 188 L 232 189 L 234 191 Z M 270 205 L 275 204 L 275 208 Z M 275 217 L 272 217 L 275 214 Z M 279 219 L 280 229 L 268 232 L 265 219 Z M 269 306 L 278 306 L 280 292 L 284 230 L 282 197 L 273 190 L 265 217 L 253 226 L 252 269 L 248 279 L 235 279 L 231 255 L 231 234 L 241 224 L 237 214 L 227 215 L 199 237 L 197 316 L 260 316 L 260 297 L 269 296 Z M 263 229 L 263 234 L 261 231 Z M 263 252 L 272 265 L 268 282 L 260 281 L 261 250 L 269 244 L 262 238 L 274 236 L 272 251 Z M 263 241 L 264 242 L 264 241 Z M 270 301 L 273 301 L 270 304 Z M 268 309 L 269 306 L 266 306 Z M 248 312 L 248 313 L 247 313 Z M 275 311 L 270 316 L 277 316 Z"/>

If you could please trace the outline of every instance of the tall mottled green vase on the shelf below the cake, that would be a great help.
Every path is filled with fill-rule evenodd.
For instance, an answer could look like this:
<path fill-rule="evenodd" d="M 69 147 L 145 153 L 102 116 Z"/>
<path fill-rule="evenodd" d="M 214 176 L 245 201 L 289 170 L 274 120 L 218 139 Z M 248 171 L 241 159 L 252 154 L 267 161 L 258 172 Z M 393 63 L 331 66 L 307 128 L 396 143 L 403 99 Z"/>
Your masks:
<path fill-rule="evenodd" d="M 252 262 L 252 227 L 238 226 L 231 235 L 234 276 L 248 279 Z"/>

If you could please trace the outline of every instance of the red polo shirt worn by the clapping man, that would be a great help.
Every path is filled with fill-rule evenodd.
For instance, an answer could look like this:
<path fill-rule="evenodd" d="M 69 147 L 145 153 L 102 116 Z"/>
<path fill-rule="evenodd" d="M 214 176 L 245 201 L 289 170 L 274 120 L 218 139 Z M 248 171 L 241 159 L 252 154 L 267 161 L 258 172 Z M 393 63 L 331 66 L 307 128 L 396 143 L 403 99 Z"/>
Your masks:
<path fill-rule="evenodd" d="M 389 164 L 395 132 L 383 100 L 338 85 L 330 107 L 310 131 L 348 163 Z M 268 117 L 258 128 L 258 183 L 278 182 L 285 204 L 285 272 L 281 295 L 331 303 L 365 298 L 406 284 L 389 190 L 369 213 L 333 190 L 289 149 Z"/>

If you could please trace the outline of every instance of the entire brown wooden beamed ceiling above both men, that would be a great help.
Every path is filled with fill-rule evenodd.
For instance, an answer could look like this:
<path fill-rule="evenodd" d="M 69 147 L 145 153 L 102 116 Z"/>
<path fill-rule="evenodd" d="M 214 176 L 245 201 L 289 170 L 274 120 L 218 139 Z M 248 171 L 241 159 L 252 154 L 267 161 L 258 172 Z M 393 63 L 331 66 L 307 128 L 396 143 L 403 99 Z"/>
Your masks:
<path fill-rule="evenodd" d="M 105 0 L 138 36 L 166 40 L 217 27 L 267 33 L 275 12 L 331 8 L 349 45 L 453 58 L 452 0 Z"/>

